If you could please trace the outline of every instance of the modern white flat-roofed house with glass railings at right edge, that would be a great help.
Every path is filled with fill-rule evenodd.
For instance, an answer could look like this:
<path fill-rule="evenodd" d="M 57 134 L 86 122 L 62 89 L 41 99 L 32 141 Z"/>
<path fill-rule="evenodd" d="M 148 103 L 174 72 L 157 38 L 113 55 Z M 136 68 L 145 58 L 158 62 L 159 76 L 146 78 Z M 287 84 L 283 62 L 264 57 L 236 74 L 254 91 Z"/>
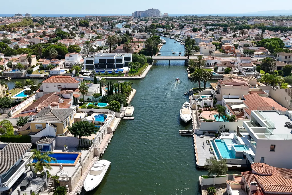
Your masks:
<path fill-rule="evenodd" d="M 243 127 L 249 134 L 254 163 L 292 168 L 292 110 L 251 111 Z"/>

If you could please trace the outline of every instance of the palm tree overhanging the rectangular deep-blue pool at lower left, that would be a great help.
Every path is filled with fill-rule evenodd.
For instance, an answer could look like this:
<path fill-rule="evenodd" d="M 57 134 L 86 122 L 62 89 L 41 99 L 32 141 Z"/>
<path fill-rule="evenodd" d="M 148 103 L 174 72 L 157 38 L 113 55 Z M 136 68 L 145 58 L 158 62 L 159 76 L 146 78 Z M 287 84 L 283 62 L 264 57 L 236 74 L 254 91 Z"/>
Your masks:
<path fill-rule="evenodd" d="M 34 172 L 42 172 L 44 168 L 48 170 L 52 169 L 50 163 L 52 161 L 56 162 L 56 159 L 49 155 L 54 154 L 53 152 L 41 152 L 37 149 L 33 149 L 32 152 L 33 153 L 30 158 L 34 159 L 35 163 L 29 163 L 28 166 L 34 166 Z"/>

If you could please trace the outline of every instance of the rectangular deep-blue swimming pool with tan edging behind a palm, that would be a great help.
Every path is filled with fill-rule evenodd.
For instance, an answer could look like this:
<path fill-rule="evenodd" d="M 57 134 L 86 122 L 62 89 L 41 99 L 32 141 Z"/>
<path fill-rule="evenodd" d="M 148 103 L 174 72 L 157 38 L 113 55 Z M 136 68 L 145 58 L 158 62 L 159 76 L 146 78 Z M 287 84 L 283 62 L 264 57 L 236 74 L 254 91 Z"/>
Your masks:
<path fill-rule="evenodd" d="M 76 165 L 81 153 L 68 152 L 68 153 L 53 153 L 49 156 L 56 158 L 56 161 L 51 161 L 50 165 L 59 166 L 62 163 L 63 166 L 74 166 Z M 36 159 L 32 161 L 33 163 L 37 162 Z M 46 161 L 48 162 L 48 161 Z"/>

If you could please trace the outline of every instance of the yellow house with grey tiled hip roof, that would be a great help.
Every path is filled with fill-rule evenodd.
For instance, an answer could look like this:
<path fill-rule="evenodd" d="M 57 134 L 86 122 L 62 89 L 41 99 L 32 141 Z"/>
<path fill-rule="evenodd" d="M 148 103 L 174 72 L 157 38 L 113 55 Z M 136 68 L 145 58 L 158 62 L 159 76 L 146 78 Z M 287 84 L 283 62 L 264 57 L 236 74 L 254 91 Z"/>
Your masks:
<path fill-rule="evenodd" d="M 67 136 L 68 127 L 74 122 L 73 108 L 43 108 L 31 116 L 30 130 L 19 131 L 21 135 L 32 134 L 39 136 Z"/>

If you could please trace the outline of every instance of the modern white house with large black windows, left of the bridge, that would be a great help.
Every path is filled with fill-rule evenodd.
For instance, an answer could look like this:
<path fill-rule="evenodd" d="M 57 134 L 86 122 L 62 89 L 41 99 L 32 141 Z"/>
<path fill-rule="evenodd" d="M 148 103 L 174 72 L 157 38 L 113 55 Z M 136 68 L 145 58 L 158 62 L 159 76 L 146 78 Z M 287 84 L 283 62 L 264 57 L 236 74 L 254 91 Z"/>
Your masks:
<path fill-rule="evenodd" d="M 84 58 L 84 69 L 123 68 L 132 61 L 132 54 L 98 53 Z"/>

